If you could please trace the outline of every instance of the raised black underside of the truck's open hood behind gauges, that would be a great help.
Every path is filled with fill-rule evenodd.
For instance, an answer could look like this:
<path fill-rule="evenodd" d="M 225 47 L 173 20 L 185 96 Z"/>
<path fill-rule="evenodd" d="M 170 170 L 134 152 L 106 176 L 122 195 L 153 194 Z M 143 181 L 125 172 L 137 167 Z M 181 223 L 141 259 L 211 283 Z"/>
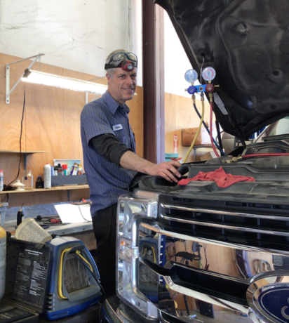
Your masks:
<path fill-rule="evenodd" d="M 288 0 L 155 3 L 168 12 L 194 70 L 200 75 L 202 63 L 216 70 L 214 108 L 224 131 L 244 140 L 289 115 Z"/>

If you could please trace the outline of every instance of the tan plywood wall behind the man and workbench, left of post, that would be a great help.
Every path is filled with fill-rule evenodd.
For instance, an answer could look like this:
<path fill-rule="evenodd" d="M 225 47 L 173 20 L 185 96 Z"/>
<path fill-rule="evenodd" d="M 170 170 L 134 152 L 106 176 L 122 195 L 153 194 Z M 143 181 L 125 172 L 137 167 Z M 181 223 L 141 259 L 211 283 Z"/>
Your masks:
<path fill-rule="evenodd" d="M 0 53 L 0 150 L 19 150 L 20 124 L 24 98 L 24 83 L 20 82 L 10 97 L 10 104 L 6 104 L 6 64 L 21 58 Z M 11 65 L 11 88 L 21 77 L 31 61 Z M 76 79 L 91 80 L 97 76 L 65 70 L 53 65 L 35 63 L 34 70 L 74 77 Z M 106 79 L 99 79 L 98 83 L 106 84 Z M 130 107 L 130 124 L 135 133 L 137 154 L 142 157 L 143 125 L 142 125 L 142 87 L 137 87 L 137 95 L 128 101 Z M 89 95 L 92 100 L 95 95 Z M 85 105 L 85 93 L 69 91 L 62 88 L 26 84 L 25 115 L 22 128 L 22 151 L 41 150 L 43 154 L 31 154 L 27 158 L 27 169 L 31 169 L 34 182 L 37 176 L 43 176 L 43 166 L 53 159 L 81 159 L 83 161 L 80 114 Z M 4 171 L 4 183 L 15 179 L 18 173 L 19 156 L 16 154 L 0 154 L 0 169 Z M 22 176 L 23 162 L 20 165 Z M 56 193 L 55 193 L 56 194 Z M 9 206 L 13 205 L 11 195 Z M 30 202 L 31 203 L 31 202 Z M 32 204 L 41 204 L 41 197 L 34 199 Z"/>

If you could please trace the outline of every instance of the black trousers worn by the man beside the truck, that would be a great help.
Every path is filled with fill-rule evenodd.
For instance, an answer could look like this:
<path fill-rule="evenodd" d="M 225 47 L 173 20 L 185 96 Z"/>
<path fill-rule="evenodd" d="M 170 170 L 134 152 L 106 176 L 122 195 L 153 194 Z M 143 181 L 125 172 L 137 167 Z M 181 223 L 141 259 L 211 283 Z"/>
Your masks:
<path fill-rule="evenodd" d="M 116 210 L 117 203 L 93 216 L 100 282 L 107 297 L 116 294 Z"/>

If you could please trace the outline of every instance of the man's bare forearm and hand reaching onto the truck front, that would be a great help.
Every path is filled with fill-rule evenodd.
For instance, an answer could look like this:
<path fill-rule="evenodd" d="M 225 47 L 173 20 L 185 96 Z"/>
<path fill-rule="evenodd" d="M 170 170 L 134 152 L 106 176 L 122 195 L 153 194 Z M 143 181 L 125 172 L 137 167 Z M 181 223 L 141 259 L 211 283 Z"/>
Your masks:
<path fill-rule="evenodd" d="M 181 174 L 177 171 L 177 167 L 180 167 L 181 164 L 173 160 L 171 162 L 154 164 L 128 151 L 122 155 L 120 164 L 125 169 L 140 171 L 151 176 L 161 176 L 169 182 L 177 183 L 179 181 L 177 178 L 181 177 Z"/>

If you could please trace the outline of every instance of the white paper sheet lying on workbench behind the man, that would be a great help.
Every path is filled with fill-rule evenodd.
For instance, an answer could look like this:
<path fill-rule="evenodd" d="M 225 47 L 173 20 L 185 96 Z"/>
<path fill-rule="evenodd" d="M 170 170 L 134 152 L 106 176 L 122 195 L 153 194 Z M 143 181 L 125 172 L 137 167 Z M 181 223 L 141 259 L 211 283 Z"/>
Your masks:
<path fill-rule="evenodd" d="M 90 205 L 72 205 L 59 204 L 55 205 L 58 216 L 60 216 L 62 223 L 83 223 L 91 221 Z"/>

